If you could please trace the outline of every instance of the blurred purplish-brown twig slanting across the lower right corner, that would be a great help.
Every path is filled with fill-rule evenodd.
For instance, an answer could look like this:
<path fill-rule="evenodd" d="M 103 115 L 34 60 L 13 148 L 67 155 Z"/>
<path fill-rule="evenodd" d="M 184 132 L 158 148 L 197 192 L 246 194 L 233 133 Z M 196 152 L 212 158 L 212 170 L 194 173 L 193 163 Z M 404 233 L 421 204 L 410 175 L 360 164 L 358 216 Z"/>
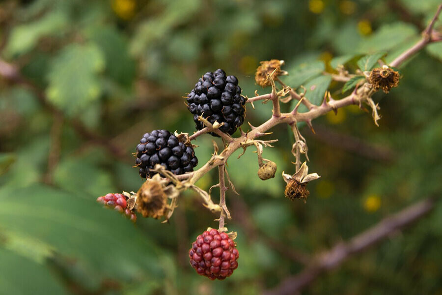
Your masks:
<path fill-rule="evenodd" d="M 285 279 L 278 287 L 264 294 L 297 294 L 325 271 L 336 268 L 352 255 L 366 250 L 382 239 L 422 218 L 434 207 L 435 200 L 433 198 L 406 207 L 400 212 L 381 220 L 377 225 L 353 237 L 348 242 L 338 243 L 331 250 L 318 254 L 310 266 L 307 266 L 300 274 Z"/>

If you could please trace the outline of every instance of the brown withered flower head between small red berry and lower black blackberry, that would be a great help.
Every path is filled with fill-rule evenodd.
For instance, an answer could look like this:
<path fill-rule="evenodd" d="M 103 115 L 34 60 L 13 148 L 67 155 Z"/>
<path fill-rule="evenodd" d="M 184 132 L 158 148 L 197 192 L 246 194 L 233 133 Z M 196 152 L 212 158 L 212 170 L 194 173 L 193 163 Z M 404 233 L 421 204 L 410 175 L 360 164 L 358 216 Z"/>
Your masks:
<path fill-rule="evenodd" d="M 137 211 L 143 217 L 158 219 L 167 213 L 167 196 L 163 185 L 154 179 L 148 179 L 137 192 Z"/>

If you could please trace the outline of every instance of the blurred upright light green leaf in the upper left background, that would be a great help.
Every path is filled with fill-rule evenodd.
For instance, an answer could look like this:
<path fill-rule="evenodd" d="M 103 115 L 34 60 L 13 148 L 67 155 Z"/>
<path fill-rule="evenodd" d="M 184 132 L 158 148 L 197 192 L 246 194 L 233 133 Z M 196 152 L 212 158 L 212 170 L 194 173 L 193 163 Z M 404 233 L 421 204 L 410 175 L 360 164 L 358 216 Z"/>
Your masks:
<path fill-rule="evenodd" d="M 48 75 L 46 94 L 55 106 L 74 115 L 97 100 L 101 87 L 97 74 L 105 60 L 92 44 L 70 44 L 55 57 Z"/>

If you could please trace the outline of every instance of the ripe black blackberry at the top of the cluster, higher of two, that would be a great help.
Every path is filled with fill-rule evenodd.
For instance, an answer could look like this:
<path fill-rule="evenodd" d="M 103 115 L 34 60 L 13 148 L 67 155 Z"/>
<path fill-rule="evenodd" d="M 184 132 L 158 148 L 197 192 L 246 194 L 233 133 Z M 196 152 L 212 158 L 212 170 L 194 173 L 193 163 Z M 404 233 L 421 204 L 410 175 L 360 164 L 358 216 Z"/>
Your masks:
<path fill-rule="evenodd" d="M 238 79 L 226 76 L 221 69 L 205 73 L 187 95 L 187 102 L 197 130 L 204 128 L 204 124 L 198 121 L 200 115 L 212 124 L 215 121 L 224 123 L 220 130 L 228 134 L 233 134 L 246 117 L 246 98 L 241 96 Z"/>

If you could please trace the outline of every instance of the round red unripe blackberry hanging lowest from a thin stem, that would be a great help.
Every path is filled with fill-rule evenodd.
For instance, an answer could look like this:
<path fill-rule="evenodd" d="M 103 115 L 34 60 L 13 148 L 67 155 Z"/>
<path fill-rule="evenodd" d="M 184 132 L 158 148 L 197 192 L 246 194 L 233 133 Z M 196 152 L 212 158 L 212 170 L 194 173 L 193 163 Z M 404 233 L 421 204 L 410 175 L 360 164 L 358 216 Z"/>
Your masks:
<path fill-rule="evenodd" d="M 211 280 L 223 280 L 238 267 L 236 243 L 226 234 L 211 229 L 196 237 L 189 250 L 191 266 Z"/>

